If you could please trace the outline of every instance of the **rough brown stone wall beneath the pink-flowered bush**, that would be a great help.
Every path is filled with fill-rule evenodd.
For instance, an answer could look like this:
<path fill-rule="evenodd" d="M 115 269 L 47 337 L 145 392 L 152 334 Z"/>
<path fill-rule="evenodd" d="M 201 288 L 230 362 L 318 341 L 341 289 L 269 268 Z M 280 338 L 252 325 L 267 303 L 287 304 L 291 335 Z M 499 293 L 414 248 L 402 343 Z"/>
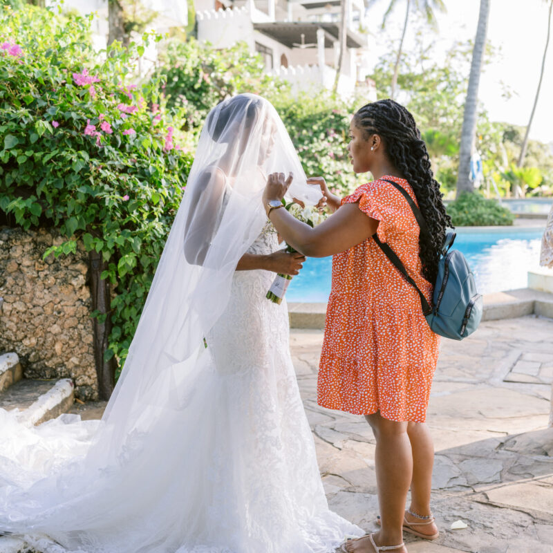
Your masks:
<path fill-rule="evenodd" d="M 28 378 L 72 378 L 75 395 L 97 399 L 87 254 L 42 255 L 55 230 L 0 227 L 0 353 L 15 351 Z"/>

